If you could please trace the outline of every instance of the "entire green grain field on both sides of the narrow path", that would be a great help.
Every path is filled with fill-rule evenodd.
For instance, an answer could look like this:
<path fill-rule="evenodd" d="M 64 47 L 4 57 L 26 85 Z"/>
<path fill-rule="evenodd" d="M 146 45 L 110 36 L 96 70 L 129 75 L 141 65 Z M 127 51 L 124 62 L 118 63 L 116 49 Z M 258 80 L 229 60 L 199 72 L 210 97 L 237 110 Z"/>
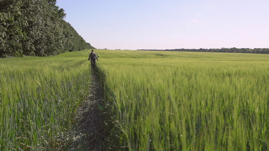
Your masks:
<path fill-rule="evenodd" d="M 269 55 L 95 51 L 116 150 L 269 150 Z M 89 52 L 0 59 L 0 150 L 53 148 L 88 93 Z"/>

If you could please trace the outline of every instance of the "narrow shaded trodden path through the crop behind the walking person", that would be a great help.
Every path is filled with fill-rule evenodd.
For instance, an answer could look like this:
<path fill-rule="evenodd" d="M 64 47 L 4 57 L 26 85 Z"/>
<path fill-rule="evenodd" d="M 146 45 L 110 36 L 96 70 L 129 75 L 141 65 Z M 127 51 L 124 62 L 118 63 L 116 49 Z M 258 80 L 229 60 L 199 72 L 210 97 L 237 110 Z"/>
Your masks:
<path fill-rule="evenodd" d="M 104 145 L 104 87 L 97 69 L 91 69 L 90 91 L 87 100 L 77 110 L 77 130 L 69 150 L 107 150 Z"/>

